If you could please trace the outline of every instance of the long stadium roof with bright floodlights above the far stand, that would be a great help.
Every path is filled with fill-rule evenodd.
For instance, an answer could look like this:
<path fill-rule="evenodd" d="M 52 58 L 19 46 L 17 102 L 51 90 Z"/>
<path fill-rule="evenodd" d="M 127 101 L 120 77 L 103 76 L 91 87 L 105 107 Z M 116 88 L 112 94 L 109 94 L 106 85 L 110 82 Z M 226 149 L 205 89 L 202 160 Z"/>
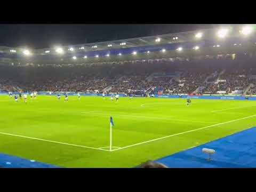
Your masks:
<path fill-rule="evenodd" d="M 241 28 L 243 25 L 234 25 L 227 26 L 223 29 L 228 29 L 228 37 L 241 37 Z M 253 27 L 255 27 L 253 25 Z M 186 43 L 186 42 L 197 42 L 198 38 L 196 35 L 200 36 L 200 40 L 214 39 L 216 41 L 222 41 L 223 39 L 217 38 L 217 32 L 220 28 L 212 29 L 203 29 L 203 30 L 194 30 L 186 31 L 181 33 L 174 34 L 165 34 L 165 35 L 155 35 L 148 37 L 138 37 L 138 38 L 129 38 L 121 39 L 116 41 L 106 41 L 106 42 L 97 42 L 97 43 L 87 43 L 87 44 L 78 44 L 70 46 L 59 46 L 63 50 L 63 53 L 83 53 L 83 52 L 97 52 L 97 51 L 111 51 L 111 50 L 122 50 L 132 47 L 145 47 L 145 46 L 159 46 L 167 45 L 174 43 Z M 221 31 L 220 35 L 225 35 L 225 30 Z M 56 52 L 58 46 L 45 48 L 45 49 L 34 49 L 30 50 L 27 47 L 7 47 L 0 46 L 0 53 L 12 53 L 19 54 L 25 53 L 25 50 L 29 50 L 34 55 L 52 55 L 58 54 Z M 28 52 L 28 51 L 27 51 Z"/>

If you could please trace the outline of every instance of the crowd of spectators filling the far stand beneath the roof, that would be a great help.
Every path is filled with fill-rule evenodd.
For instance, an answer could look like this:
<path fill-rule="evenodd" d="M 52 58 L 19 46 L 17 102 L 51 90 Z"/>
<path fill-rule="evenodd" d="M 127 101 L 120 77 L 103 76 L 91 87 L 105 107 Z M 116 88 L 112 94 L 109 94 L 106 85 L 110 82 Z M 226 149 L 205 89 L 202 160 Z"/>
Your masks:
<path fill-rule="evenodd" d="M 256 84 L 255 57 L 212 59 L 157 59 L 124 61 L 123 63 L 91 63 L 69 67 L 14 67 L 0 65 L 0 90 L 52 92 L 103 92 L 118 93 L 162 90 L 163 93 L 217 94 L 243 91 Z M 220 75 L 220 71 L 225 70 Z M 179 76 L 164 75 L 180 71 Z M 151 74 L 158 75 L 150 77 Z M 163 75 L 161 75 L 161 73 Z M 159 75 L 160 74 L 160 75 Z M 206 81 L 207 80 L 207 81 Z M 256 93 L 255 87 L 250 89 Z"/>

